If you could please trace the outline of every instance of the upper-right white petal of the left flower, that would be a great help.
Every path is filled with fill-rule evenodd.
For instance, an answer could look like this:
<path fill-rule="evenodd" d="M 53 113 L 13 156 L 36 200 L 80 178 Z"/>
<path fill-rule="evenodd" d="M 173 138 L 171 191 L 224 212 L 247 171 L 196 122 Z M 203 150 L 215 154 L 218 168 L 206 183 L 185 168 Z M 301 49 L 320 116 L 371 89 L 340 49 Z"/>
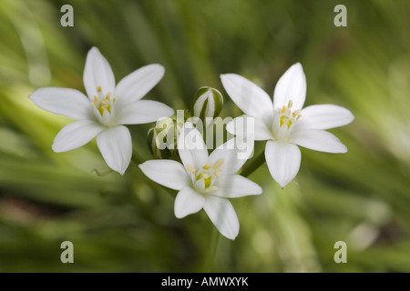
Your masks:
<path fill-rule="evenodd" d="M 116 88 L 118 102 L 132 103 L 141 99 L 144 95 L 159 83 L 165 73 L 162 65 L 145 65 L 119 81 Z"/>

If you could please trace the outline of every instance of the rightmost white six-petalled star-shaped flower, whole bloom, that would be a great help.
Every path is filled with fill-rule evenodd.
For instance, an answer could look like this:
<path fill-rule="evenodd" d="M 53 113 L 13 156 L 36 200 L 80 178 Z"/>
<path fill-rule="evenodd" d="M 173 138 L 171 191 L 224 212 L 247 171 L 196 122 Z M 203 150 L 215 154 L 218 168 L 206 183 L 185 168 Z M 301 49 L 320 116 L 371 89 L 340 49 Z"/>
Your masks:
<path fill-rule="evenodd" d="M 303 146 L 327 153 L 347 152 L 340 140 L 324 131 L 347 125 L 354 115 L 337 105 L 311 105 L 302 109 L 306 77 L 302 65 L 292 65 L 279 79 L 271 97 L 241 75 L 220 76 L 233 102 L 245 113 L 227 125 L 231 134 L 241 135 L 240 118 L 254 118 L 255 140 L 268 140 L 265 159 L 273 179 L 284 187 L 299 172 Z"/>

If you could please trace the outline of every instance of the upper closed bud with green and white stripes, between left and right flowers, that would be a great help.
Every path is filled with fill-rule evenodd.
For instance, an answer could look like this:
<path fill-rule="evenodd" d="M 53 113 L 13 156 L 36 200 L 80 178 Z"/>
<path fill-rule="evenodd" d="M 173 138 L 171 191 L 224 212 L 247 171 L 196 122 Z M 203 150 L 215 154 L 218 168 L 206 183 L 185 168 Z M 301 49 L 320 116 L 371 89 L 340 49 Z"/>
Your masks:
<path fill-rule="evenodd" d="M 200 87 L 194 97 L 192 115 L 205 120 L 205 117 L 215 118 L 222 110 L 223 97 L 220 91 L 211 87 Z"/>

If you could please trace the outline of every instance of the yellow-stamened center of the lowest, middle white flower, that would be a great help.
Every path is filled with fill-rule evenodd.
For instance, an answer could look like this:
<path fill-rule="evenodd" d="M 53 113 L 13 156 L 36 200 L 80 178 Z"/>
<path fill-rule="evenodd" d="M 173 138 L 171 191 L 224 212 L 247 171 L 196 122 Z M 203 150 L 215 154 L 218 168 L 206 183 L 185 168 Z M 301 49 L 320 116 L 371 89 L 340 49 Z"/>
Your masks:
<path fill-rule="evenodd" d="M 203 194 L 217 190 L 218 187 L 214 186 L 214 184 L 216 179 L 221 174 L 219 169 L 224 162 L 225 160 L 220 158 L 212 166 L 209 164 L 202 166 L 198 172 L 193 168 L 193 166 L 185 166 L 187 171 L 190 173 L 195 190 Z"/>

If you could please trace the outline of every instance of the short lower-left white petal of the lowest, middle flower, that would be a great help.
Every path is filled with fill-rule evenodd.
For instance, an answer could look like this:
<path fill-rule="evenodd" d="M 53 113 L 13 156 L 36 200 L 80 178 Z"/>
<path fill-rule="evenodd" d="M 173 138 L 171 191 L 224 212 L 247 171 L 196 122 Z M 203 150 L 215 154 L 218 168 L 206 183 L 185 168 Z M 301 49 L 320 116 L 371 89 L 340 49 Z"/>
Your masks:
<path fill-rule="evenodd" d="M 185 187 L 175 197 L 174 213 L 177 218 L 182 218 L 197 213 L 205 204 L 204 196 L 195 192 L 191 187 Z"/>

